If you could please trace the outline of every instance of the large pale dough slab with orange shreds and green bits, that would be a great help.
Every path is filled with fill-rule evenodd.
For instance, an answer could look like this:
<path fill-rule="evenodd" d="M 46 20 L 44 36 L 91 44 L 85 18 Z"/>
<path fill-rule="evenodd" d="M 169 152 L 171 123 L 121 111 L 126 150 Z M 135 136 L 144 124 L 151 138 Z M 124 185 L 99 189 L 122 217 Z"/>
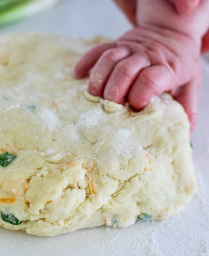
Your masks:
<path fill-rule="evenodd" d="M 6 229 L 52 236 L 165 220 L 195 193 L 189 122 L 179 103 L 163 94 L 134 113 L 128 104 L 89 95 L 88 79 L 72 78 L 79 56 L 100 41 L 1 36 Z"/>

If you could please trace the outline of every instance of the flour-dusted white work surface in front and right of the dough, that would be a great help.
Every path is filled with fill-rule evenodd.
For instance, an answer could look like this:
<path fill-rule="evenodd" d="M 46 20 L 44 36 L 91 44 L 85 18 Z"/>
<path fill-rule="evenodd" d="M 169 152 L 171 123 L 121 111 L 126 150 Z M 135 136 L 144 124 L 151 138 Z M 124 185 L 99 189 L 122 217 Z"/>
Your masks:
<path fill-rule="evenodd" d="M 209 255 L 209 111 L 207 63 L 203 63 L 203 89 L 199 121 L 192 136 L 198 192 L 177 216 L 167 221 L 140 222 L 126 229 L 97 227 L 56 237 L 33 237 L 21 231 L 0 228 L 2 255 L 99 256 L 208 256 Z M 70 242 L 69 242 L 70 241 Z"/>

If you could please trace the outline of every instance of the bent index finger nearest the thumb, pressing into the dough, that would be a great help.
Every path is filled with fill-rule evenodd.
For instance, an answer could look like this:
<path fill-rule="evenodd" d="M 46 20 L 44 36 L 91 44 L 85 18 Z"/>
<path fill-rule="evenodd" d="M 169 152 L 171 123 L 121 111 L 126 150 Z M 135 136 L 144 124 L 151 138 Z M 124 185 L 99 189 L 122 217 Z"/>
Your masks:
<path fill-rule="evenodd" d="M 174 79 L 166 66 L 154 65 L 145 68 L 132 85 L 128 102 L 133 108 L 142 109 L 153 96 L 172 89 L 173 86 Z"/>

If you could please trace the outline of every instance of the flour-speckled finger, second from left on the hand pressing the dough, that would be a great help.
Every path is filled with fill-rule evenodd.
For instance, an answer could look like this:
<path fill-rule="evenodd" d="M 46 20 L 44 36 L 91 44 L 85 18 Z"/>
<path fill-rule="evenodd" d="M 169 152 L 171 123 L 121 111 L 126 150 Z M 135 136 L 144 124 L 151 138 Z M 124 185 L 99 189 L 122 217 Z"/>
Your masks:
<path fill-rule="evenodd" d="M 116 47 L 103 52 L 91 71 L 88 88 L 89 93 L 102 97 L 105 83 L 113 68 L 117 62 L 128 57 L 130 54 L 131 50 L 127 46 Z"/>

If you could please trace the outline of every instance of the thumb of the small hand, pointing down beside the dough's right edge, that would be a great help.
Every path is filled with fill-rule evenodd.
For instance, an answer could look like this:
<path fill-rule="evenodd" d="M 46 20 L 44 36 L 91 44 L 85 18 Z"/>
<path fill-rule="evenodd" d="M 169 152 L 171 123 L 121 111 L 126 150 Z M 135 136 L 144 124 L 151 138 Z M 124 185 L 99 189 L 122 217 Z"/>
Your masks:
<path fill-rule="evenodd" d="M 187 113 L 190 122 L 190 131 L 194 129 L 197 122 L 198 100 L 201 84 L 202 79 L 201 74 L 199 74 L 186 85 L 180 87 L 174 95 L 175 100 L 179 101 L 179 103 L 183 105 L 183 108 Z"/>

